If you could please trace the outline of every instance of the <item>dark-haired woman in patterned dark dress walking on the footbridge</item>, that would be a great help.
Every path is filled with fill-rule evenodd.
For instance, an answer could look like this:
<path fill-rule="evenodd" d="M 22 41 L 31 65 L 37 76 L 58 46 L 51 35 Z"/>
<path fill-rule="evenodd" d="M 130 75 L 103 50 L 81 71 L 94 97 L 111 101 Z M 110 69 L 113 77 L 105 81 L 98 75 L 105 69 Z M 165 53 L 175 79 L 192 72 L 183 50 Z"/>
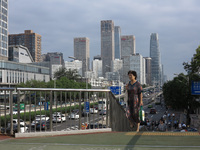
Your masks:
<path fill-rule="evenodd" d="M 140 106 L 143 105 L 142 86 L 136 80 L 137 79 L 136 71 L 130 70 L 128 72 L 128 77 L 130 81 L 126 85 L 126 90 L 128 92 L 127 117 L 130 122 L 130 127 L 133 128 L 134 125 L 136 125 L 137 127 L 136 131 L 139 132 L 139 127 L 140 127 L 139 110 L 140 110 Z"/>

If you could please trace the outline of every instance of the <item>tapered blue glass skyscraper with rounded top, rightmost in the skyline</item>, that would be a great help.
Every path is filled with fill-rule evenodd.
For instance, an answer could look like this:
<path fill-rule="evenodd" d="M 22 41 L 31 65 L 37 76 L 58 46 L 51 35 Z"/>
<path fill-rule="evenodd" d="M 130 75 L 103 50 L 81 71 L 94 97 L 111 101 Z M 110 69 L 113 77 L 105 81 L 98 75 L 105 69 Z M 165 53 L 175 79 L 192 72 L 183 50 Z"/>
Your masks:
<path fill-rule="evenodd" d="M 152 85 L 161 85 L 162 67 L 157 33 L 152 33 L 150 37 L 150 57 Z"/>

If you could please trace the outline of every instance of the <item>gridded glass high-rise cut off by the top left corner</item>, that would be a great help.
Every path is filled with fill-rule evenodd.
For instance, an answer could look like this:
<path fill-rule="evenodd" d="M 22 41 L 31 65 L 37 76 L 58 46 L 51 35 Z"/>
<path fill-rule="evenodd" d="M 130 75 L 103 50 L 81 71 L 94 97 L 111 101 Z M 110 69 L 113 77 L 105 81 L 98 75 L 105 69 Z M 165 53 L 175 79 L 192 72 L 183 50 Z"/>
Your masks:
<path fill-rule="evenodd" d="M 0 1 L 1 17 L 0 17 L 0 59 L 8 60 L 8 1 Z"/>

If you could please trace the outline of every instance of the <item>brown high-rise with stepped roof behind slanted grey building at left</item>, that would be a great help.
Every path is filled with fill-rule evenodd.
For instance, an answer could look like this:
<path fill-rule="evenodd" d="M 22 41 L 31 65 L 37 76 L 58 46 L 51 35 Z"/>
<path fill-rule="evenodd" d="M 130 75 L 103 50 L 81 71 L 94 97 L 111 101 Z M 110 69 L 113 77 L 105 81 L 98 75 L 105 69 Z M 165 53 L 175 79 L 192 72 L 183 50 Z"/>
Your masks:
<path fill-rule="evenodd" d="M 9 45 L 22 45 L 28 48 L 35 62 L 41 61 L 41 35 L 32 30 L 25 30 L 24 33 L 10 34 Z"/>

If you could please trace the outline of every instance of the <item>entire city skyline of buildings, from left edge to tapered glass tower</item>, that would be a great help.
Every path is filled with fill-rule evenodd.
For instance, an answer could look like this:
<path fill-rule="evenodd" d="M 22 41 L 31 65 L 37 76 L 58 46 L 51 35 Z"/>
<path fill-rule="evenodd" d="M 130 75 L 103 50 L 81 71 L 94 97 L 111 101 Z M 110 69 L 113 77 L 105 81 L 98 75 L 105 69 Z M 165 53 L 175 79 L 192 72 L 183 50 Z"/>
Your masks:
<path fill-rule="evenodd" d="M 8 34 L 7 0 L 2 0 L 0 7 L 1 86 L 14 86 L 31 79 L 48 82 L 61 67 L 77 70 L 93 87 L 124 85 L 129 81 L 129 70 L 137 72 L 141 84 L 164 83 L 157 33 L 150 36 L 150 56 L 143 57 L 136 53 L 134 35 L 122 35 L 120 26 L 115 26 L 112 20 L 102 20 L 101 54 L 90 61 L 90 39 L 74 37 L 74 56 L 71 61 L 64 61 L 62 53 L 42 54 L 42 36 L 32 30 Z"/>

